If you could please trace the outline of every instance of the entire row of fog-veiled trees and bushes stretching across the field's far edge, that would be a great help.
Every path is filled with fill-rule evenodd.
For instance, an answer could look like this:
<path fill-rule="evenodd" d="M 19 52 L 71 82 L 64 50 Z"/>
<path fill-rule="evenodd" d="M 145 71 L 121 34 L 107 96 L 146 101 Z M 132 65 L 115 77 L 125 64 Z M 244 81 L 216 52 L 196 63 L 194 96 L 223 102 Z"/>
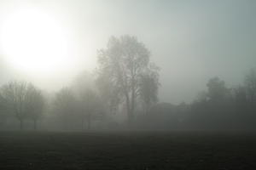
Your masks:
<path fill-rule="evenodd" d="M 98 65 L 72 85 L 48 94 L 29 82 L 0 88 L 0 126 L 34 129 L 254 129 L 256 70 L 237 87 L 212 77 L 190 104 L 158 102 L 160 68 L 136 37 L 111 37 Z M 166 92 L 167 93 L 167 92 Z M 121 121 L 117 118 L 122 116 Z M 16 123 L 17 124 L 17 123 Z M 0 127 L 1 128 L 1 127 Z"/>

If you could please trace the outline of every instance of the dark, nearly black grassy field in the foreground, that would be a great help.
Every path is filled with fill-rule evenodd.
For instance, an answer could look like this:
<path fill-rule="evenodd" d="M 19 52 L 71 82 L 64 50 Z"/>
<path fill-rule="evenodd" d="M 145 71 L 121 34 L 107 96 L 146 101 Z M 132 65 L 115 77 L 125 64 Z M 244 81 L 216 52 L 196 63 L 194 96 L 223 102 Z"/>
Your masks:
<path fill-rule="evenodd" d="M 0 132 L 0 169 L 256 169 L 252 133 Z"/>

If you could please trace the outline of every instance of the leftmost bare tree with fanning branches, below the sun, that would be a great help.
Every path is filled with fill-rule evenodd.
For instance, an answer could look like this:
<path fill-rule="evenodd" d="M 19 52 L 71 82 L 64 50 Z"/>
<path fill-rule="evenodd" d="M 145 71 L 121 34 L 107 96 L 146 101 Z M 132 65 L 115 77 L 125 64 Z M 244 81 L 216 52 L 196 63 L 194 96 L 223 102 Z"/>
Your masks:
<path fill-rule="evenodd" d="M 9 111 L 13 112 L 20 121 L 20 129 L 23 129 L 23 121 L 26 118 L 26 97 L 28 85 L 26 82 L 9 82 L 1 88 L 1 94 Z"/>

